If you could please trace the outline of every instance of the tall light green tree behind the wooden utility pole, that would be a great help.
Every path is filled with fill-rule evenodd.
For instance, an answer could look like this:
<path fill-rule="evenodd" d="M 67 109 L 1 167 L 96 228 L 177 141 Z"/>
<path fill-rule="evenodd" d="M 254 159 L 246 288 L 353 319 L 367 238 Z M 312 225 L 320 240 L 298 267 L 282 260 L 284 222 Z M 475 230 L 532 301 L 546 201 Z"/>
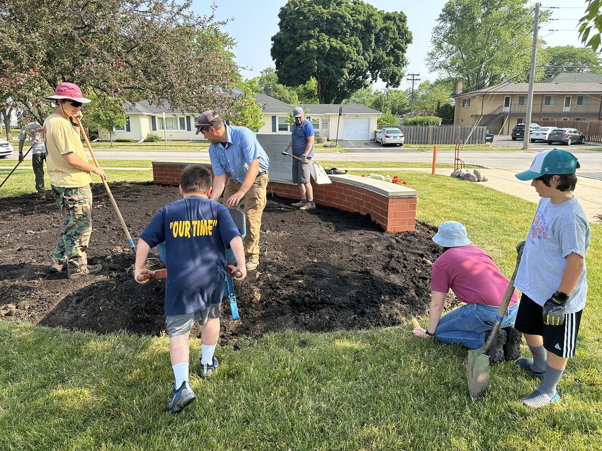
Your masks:
<path fill-rule="evenodd" d="M 542 11 L 541 22 L 549 15 Z M 527 0 L 449 0 L 432 32 L 427 67 L 464 82 L 467 91 L 526 81 L 533 20 Z"/>

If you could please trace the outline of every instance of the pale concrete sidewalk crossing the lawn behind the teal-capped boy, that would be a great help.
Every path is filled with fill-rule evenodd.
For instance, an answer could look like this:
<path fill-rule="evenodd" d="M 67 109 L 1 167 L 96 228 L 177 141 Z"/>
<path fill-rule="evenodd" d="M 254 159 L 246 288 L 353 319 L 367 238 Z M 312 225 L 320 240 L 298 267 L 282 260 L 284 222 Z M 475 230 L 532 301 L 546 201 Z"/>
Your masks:
<path fill-rule="evenodd" d="M 391 171 L 399 174 L 402 171 L 418 171 L 430 174 L 430 168 L 344 168 L 341 165 L 338 169 L 347 169 L 350 171 L 383 172 Z M 453 168 L 438 168 L 436 174 L 449 175 Z M 539 202 L 539 195 L 530 182 L 521 182 L 514 176 L 518 171 L 509 171 L 505 169 L 483 168 L 483 173 L 489 178 L 487 182 L 477 183 L 480 186 L 488 186 L 497 191 L 520 197 L 534 203 Z M 597 216 L 602 215 L 602 180 L 591 179 L 589 177 L 577 177 L 577 188 L 573 195 L 579 200 L 583 207 L 585 215 L 590 222 L 600 223 L 601 219 Z M 420 197 L 420 192 L 418 194 Z"/>

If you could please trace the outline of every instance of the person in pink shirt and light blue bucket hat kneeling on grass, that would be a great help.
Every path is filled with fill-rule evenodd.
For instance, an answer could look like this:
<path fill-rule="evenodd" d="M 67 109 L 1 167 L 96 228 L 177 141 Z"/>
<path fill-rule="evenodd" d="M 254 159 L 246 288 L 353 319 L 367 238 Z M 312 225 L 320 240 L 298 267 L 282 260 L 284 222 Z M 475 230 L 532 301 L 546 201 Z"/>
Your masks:
<path fill-rule="evenodd" d="M 424 339 L 435 337 L 442 342 L 479 349 L 489 337 L 510 281 L 488 253 L 470 244 L 466 227 L 460 222 L 443 222 L 433 241 L 443 252 L 433 264 L 429 324 L 426 329 L 417 327 L 412 332 Z M 466 305 L 441 316 L 450 288 Z M 522 336 L 512 327 L 517 311 L 518 292 L 514 290 L 497 340 L 488 351 L 491 363 L 520 357 Z"/>

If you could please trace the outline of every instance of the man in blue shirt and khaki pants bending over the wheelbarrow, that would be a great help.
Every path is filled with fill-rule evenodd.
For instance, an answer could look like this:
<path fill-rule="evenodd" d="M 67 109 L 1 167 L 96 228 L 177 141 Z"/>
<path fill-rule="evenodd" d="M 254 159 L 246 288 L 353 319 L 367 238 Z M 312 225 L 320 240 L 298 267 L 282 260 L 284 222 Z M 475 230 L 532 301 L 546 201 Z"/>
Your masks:
<path fill-rule="evenodd" d="M 247 271 L 259 265 L 259 230 L 265 208 L 270 159 L 247 127 L 229 126 L 213 110 L 205 111 L 196 123 L 197 135 L 208 140 L 209 159 L 213 167 L 211 200 L 240 208 L 244 199 L 247 235 L 244 238 Z M 226 179 L 228 183 L 226 184 Z"/>

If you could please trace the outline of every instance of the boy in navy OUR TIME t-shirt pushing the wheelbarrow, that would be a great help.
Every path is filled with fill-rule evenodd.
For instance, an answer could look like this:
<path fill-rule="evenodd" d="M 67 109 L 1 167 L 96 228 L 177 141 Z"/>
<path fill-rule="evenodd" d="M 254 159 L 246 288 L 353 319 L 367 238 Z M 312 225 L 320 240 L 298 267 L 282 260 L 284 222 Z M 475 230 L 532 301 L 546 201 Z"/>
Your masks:
<path fill-rule="evenodd" d="M 157 212 L 141 233 L 136 251 L 134 278 L 146 283 L 148 279 L 139 281 L 138 276 L 153 273 L 144 268 L 149 250 L 165 242 L 165 316 L 176 379 L 166 407 L 169 413 L 178 413 L 196 398 L 188 382 L 188 335 L 195 322 L 203 329 L 200 377 L 211 376 L 218 365 L 213 353 L 220 332 L 227 245 L 231 246 L 241 272 L 236 280 L 247 275 L 237 226 L 225 206 L 208 199 L 212 181 L 205 167 L 184 168 L 179 187 L 184 198 Z"/>

